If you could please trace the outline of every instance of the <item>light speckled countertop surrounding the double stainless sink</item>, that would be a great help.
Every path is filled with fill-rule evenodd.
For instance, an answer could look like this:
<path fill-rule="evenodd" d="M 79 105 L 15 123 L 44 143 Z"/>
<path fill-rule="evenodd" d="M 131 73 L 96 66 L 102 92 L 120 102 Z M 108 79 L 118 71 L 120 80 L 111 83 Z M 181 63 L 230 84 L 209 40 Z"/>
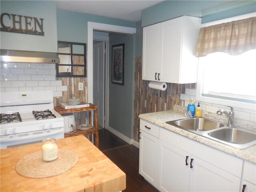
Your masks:
<path fill-rule="evenodd" d="M 221 150 L 223 152 L 226 152 L 228 154 L 234 155 L 236 157 L 242 158 L 244 160 L 247 160 L 249 162 L 256 164 L 256 145 L 253 145 L 246 149 L 234 148 L 226 144 L 222 144 L 220 142 L 211 140 L 209 138 L 200 136 L 198 134 L 194 134 L 192 132 L 188 132 L 186 130 L 182 130 L 180 128 L 176 128 L 174 126 L 171 126 L 165 123 L 166 121 L 186 118 L 184 115 L 184 112 L 168 110 L 168 111 L 161 111 L 161 112 L 155 112 L 155 113 L 140 114 L 139 118 L 144 119 L 153 124 L 156 124 L 162 128 L 166 128 L 172 132 L 178 133 L 192 140 L 195 140 L 197 142 L 200 142 L 202 144 L 206 144 L 212 148 L 216 148 L 218 150 Z"/>

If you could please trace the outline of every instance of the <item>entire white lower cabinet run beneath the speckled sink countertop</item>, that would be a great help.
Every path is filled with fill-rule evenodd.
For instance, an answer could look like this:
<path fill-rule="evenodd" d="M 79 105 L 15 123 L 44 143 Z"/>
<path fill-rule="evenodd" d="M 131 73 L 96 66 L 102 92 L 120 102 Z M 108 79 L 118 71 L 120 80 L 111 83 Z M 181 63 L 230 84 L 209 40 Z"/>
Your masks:
<path fill-rule="evenodd" d="M 158 190 L 256 191 L 256 164 L 145 120 L 140 131 L 139 173 Z"/>

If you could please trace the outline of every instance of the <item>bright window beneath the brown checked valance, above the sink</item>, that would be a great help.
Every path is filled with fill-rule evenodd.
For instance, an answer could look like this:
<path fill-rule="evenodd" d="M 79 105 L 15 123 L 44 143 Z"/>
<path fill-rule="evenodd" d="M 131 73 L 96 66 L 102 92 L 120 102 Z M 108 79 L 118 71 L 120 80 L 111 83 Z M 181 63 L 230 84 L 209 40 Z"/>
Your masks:
<path fill-rule="evenodd" d="M 255 110 L 256 50 L 216 52 L 198 60 L 196 100 Z"/>

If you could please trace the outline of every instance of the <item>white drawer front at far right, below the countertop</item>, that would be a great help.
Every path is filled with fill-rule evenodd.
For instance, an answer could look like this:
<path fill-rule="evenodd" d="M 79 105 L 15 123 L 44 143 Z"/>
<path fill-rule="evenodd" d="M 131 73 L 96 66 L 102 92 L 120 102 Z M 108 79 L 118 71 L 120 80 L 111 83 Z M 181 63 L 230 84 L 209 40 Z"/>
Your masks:
<path fill-rule="evenodd" d="M 244 180 L 256 184 L 256 164 L 244 161 Z"/>

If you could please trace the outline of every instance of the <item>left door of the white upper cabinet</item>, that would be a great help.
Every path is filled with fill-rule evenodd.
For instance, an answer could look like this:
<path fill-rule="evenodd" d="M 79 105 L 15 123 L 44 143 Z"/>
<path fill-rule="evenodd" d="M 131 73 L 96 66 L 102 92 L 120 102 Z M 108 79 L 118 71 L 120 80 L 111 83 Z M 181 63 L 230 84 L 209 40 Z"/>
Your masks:
<path fill-rule="evenodd" d="M 160 59 L 160 24 L 143 28 L 142 80 L 158 81 Z"/>

